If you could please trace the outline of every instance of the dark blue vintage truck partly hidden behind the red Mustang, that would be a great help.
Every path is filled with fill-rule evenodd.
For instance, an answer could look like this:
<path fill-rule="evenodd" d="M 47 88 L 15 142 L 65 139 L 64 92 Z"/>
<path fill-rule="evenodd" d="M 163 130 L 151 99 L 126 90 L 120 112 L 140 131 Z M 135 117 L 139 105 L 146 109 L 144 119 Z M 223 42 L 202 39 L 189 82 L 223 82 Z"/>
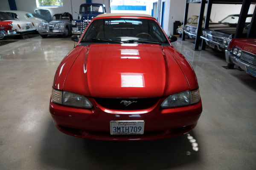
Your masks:
<path fill-rule="evenodd" d="M 105 14 L 106 8 L 101 3 L 83 3 L 79 9 L 78 20 L 72 21 L 72 34 L 82 34 L 90 21 L 99 14 Z"/>

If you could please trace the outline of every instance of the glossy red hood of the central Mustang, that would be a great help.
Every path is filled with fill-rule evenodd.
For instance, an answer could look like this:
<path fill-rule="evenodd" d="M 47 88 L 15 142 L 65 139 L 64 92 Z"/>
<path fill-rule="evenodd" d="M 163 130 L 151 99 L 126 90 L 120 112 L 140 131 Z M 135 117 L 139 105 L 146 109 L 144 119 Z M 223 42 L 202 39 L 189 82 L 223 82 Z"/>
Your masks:
<path fill-rule="evenodd" d="M 94 44 L 81 50 L 64 90 L 102 98 L 146 98 L 189 90 L 189 85 L 172 54 L 160 45 Z"/>

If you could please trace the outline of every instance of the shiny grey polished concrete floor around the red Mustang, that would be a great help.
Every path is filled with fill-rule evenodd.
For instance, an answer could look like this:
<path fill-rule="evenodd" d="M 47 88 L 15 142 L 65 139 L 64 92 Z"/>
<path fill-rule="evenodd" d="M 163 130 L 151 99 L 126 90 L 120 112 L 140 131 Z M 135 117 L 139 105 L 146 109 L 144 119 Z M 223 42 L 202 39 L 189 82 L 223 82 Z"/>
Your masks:
<path fill-rule="evenodd" d="M 173 45 L 198 77 L 203 113 L 190 133 L 105 142 L 59 132 L 49 113 L 55 70 L 73 48 L 38 34 L 0 41 L 0 170 L 255 170 L 256 78 L 227 70 L 224 56 Z"/>

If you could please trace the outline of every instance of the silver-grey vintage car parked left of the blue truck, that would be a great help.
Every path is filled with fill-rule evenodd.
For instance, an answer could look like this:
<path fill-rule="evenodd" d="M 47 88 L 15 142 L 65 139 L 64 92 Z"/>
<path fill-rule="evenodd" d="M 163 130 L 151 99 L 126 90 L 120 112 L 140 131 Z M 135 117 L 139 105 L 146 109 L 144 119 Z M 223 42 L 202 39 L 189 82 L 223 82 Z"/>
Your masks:
<path fill-rule="evenodd" d="M 73 17 L 70 13 L 55 14 L 51 22 L 43 22 L 38 26 L 38 32 L 42 38 L 50 34 L 62 35 L 67 37 L 71 34 Z"/>

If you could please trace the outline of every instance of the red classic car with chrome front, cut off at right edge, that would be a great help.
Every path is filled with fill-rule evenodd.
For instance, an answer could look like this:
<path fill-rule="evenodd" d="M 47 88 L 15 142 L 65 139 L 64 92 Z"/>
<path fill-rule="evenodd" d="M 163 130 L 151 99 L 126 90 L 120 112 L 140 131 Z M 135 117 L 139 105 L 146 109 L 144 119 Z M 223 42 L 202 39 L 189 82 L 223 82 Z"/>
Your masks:
<path fill-rule="evenodd" d="M 226 61 L 256 77 L 256 38 L 232 39 L 225 51 Z"/>

